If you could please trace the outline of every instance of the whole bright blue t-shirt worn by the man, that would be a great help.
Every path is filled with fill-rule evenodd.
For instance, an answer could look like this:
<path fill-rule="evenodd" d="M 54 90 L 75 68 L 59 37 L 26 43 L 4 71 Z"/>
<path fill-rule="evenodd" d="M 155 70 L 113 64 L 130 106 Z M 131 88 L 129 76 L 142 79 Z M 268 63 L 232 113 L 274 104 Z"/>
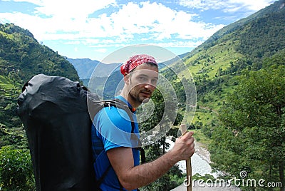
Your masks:
<path fill-rule="evenodd" d="M 128 103 L 122 96 L 116 97 Z M 130 106 L 130 104 L 128 103 Z M 135 121 L 135 135 L 139 138 L 138 122 L 133 114 L 133 120 Z M 94 117 L 91 135 L 92 135 L 92 148 L 94 170 L 97 180 L 103 175 L 105 170 L 110 166 L 110 161 L 106 152 L 113 148 L 132 148 L 134 164 L 140 164 L 140 151 L 135 147 L 138 146 L 138 140 L 131 139 L 132 125 L 130 123 L 130 117 L 125 110 L 115 108 L 113 106 L 105 107 L 100 110 Z M 120 160 L 123 160 L 120 159 Z M 113 167 L 110 167 L 107 175 L 100 185 L 102 190 L 120 190 L 120 184 L 118 177 L 115 175 Z M 125 190 L 125 189 L 124 189 Z"/>

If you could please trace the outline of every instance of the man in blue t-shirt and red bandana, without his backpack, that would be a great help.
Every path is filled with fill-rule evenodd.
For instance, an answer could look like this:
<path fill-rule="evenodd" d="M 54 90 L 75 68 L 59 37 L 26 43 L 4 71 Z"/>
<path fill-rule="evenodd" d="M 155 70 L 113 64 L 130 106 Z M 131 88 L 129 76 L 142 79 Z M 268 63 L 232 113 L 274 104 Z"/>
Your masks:
<path fill-rule="evenodd" d="M 158 80 L 155 58 L 136 55 L 120 68 L 125 85 L 120 96 L 133 110 L 135 128 L 132 132 L 130 117 L 115 107 L 106 107 L 95 115 L 92 127 L 93 156 L 95 174 L 101 190 L 136 190 L 164 175 L 180 160 L 189 159 L 195 152 L 192 132 L 177 138 L 172 150 L 157 160 L 140 165 L 140 151 L 135 149 L 131 134 L 139 138 L 135 108 L 150 99 Z M 105 174 L 105 175 L 104 175 Z"/>

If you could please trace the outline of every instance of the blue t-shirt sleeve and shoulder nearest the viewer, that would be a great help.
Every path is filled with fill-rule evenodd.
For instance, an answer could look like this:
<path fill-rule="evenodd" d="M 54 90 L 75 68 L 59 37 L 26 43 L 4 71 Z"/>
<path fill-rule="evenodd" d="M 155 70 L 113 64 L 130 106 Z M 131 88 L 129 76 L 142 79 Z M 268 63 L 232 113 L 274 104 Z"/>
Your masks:
<path fill-rule="evenodd" d="M 105 151 L 112 148 L 133 148 L 131 140 L 132 125 L 125 110 L 106 107 L 95 116 L 95 128 L 103 141 Z"/>

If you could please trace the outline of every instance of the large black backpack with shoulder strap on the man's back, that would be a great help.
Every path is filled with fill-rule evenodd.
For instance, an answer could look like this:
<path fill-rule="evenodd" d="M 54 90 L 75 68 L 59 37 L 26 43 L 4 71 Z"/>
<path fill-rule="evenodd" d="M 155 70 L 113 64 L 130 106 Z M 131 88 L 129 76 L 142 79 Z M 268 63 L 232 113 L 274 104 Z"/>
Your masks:
<path fill-rule="evenodd" d="M 110 105 L 130 113 L 128 105 L 118 100 L 99 100 L 78 82 L 43 74 L 25 84 L 18 105 L 36 190 L 98 190 L 103 177 L 96 181 L 93 170 L 91 118 Z"/>

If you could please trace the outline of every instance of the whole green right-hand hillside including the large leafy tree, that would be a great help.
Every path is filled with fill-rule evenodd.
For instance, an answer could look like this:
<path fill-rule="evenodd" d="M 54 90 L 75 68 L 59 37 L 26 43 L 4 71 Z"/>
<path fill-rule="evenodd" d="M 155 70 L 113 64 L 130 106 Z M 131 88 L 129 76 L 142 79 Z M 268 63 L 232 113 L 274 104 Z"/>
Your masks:
<path fill-rule="evenodd" d="M 225 26 L 182 58 L 197 88 L 197 112 L 188 125 L 209 149 L 212 167 L 224 179 L 244 170 L 249 178 L 282 182 L 272 190 L 285 185 L 284 5 L 276 1 Z"/>

